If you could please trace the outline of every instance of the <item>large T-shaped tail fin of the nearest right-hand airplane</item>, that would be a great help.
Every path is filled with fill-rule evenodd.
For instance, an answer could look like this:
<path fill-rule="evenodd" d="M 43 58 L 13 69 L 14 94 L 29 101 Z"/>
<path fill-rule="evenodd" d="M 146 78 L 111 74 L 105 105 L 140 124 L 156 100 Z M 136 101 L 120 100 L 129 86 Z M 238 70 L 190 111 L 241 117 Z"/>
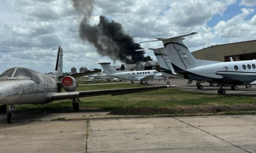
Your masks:
<path fill-rule="evenodd" d="M 191 36 L 197 33 L 189 33 L 176 37 L 161 38 L 157 40 L 163 42 L 164 48 L 170 57 L 172 66 L 175 72 L 182 71 L 182 69 L 195 68 L 198 65 L 195 57 L 189 52 L 188 47 L 184 44 L 183 40 L 186 36 Z"/>

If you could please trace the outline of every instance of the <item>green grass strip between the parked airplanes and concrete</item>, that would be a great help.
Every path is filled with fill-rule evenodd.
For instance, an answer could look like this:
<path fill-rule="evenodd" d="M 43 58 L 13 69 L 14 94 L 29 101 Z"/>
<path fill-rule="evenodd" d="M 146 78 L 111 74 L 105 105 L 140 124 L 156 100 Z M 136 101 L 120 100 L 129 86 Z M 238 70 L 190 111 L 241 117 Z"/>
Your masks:
<path fill-rule="evenodd" d="M 117 89 L 127 87 L 145 87 L 138 84 L 109 84 L 109 85 L 80 85 L 77 91 L 90 91 L 100 89 Z M 102 108 L 113 110 L 116 108 L 173 108 L 176 106 L 196 105 L 234 105 L 256 104 L 252 97 L 237 97 L 218 94 L 204 94 L 199 92 L 181 91 L 178 88 L 160 89 L 158 91 L 140 92 L 120 96 L 96 96 L 80 98 L 83 105 L 88 108 Z M 50 108 L 72 107 L 72 100 L 54 101 L 44 106 Z M 17 106 L 20 109 L 20 106 Z M 42 106 L 25 105 L 22 108 L 42 108 Z"/>

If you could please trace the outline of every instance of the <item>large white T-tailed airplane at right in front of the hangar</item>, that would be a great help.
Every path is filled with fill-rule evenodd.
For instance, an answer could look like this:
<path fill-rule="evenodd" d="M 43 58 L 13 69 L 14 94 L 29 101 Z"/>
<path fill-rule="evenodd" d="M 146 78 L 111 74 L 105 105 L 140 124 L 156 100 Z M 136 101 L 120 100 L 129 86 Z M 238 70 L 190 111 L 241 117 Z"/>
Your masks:
<path fill-rule="evenodd" d="M 183 40 L 187 36 L 197 34 L 195 32 L 175 37 L 157 37 L 162 41 L 164 48 L 170 57 L 175 73 L 184 75 L 189 80 L 204 80 L 219 84 L 218 94 L 226 94 L 225 85 L 232 85 L 232 90 L 237 90 L 237 85 L 253 84 L 256 80 L 256 61 L 231 61 L 215 62 L 196 60 L 189 52 Z M 152 42 L 141 41 L 140 43 Z"/>

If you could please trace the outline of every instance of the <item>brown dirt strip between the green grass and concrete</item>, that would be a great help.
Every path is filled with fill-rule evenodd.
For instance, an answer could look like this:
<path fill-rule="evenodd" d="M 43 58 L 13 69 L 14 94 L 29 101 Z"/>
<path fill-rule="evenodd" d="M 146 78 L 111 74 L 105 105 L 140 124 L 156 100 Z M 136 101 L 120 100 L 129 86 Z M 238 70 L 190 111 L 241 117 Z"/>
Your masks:
<path fill-rule="evenodd" d="M 199 106 L 175 106 L 173 108 L 118 108 L 111 111 L 111 115 L 159 115 L 182 113 L 220 113 L 220 112 L 244 112 L 255 111 L 256 104 L 236 105 L 199 105 Z"/>

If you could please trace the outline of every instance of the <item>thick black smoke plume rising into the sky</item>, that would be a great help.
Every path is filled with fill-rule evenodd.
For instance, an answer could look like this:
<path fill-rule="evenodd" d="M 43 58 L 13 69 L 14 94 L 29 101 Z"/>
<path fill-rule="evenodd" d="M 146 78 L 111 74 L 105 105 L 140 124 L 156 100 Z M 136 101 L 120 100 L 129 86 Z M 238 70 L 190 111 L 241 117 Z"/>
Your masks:
<path fill-rule="evenodd" d="M 109 20 L 105 16 L 100 16 L 99 24 L 90 25 L 89 19 L 92 15 L 93 0 L 72 0 L 76 10 L 84 15 L 79 27 L 80 38 L 88 41 L 102 56 L 108 56 L 114 62 L 116 60 L 125 63 L 134 63 L 138 61 L 150 61 L 150 56 L 145 57 L 145 52 L 135 52 L 141 49 L 138 43 L 129 34 L 125 33 L 122 24 Z"/>

